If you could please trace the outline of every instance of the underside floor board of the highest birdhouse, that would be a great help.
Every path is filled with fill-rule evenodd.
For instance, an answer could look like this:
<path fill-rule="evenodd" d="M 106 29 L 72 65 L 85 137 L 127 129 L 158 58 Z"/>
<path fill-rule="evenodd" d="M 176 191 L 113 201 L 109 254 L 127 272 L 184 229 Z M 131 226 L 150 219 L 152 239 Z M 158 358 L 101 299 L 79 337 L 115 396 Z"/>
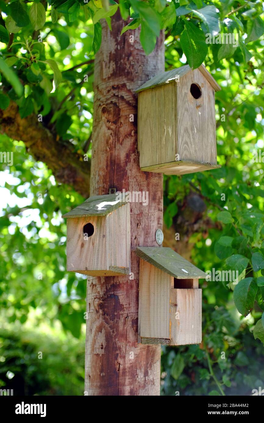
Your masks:
<path fill-rule="evenodd" d="M 221 168 L 220 165 L 211 165 L 210 163 L 192 162 L 188 160 L 179 160 L 159 165 L 146 166 L 140 168 L 143 172 L 164 173 L 164 175 L 185 175 L 187 173 L 203 172 L 204 170 L 213 170 Z"/>

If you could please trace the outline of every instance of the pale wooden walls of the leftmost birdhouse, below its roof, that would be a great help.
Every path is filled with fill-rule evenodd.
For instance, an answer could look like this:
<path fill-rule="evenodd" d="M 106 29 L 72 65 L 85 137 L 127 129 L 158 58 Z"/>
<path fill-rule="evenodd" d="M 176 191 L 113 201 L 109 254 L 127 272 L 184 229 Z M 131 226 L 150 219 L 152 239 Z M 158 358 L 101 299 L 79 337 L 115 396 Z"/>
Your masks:
<path fill-rule="evenodd" d="M 84 236 L 91 223 L 94 233 Z M 130 206 L 107 216 L 73 217 L 67 220 L 67 270 L 83 275 L 128 275 L 130 268 Z"/>

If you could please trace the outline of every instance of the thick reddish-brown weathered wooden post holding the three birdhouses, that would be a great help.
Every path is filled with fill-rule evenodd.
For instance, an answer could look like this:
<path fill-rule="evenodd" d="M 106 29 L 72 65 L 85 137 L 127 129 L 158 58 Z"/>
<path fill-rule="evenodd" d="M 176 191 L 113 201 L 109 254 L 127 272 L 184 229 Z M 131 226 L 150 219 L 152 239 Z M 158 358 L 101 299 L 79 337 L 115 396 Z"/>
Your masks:
<path fill-rule="evenodd" d="M 138 344 L 139 260 L 134 251 L 137 246 L 158 246 L 155 233 L 162 228 L 163 178 L 139 169 L 134 91 L 164 71 L 164 36 L 146 56 L 139 28 L 120 36 L 124 25 L 119 14 L 112 18 L 112 31 L 103 24 L 96 55 L 90 195 L 108 194 L 110 187 L 116 187 L 121 192 L 148 192 L 149 202 L 130 203 L 133 280 L 88 278 L 85 390 L 90 396 L 157 396 L 160 391 L 160 346 Z"/>

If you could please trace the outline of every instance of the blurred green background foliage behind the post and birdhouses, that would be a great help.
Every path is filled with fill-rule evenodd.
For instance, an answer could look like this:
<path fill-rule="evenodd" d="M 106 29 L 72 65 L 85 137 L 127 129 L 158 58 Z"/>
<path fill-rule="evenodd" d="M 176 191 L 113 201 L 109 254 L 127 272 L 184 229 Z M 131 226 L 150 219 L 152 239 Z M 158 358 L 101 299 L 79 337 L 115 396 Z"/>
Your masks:
<path fill-rule="evenodd" d="M 263 18 L 259 1 L 205 4 L 220 10 L 222 32 L 231 25 L 225 16 L 239 8 L 234 15 L 243 25 L 243 40 L 247 30 L 252 33 L 256 16 Z M 3 25 L 8 15 L 3 10 L 8 12 L 9 6 L 3 0 L 0 5 Z M 17 101 L 22 118 L 42 113 L 58 143 L 69 142 L 90 159 L 92 19 L 81 9 L 78 19 L 58 12 L 53 22 L 51 6 L 45 7 L 47 19 L 36 36 L 44 39 L 45 59 L 56 60 L 61 83 L 50 93 L 49 68 L 45 65 L 38 73 L 36 67 L 34 73 L 33 63 L 25 68 L 21 59 L 19 65 L 9 64 L 23 81 L 25 99 L 17 99 L 4 77 L 3 95 Z M 30 37 L 30 24 L 22 32 Z M 172 25 L 166 28 L 166 70 L 186 63 L 176 32 Z M 6 58 L 8 41 L 1 41 Z M 259 151 L 264 152 L 264 39 L 258 33 L 247 44 L 250 60 L 241 48 L 218 60 L 220 47 L 208 45 L 204 63 L 222 88 L 216 93 L 217 160 L 222 168 L 164 176 L 164 234 L 166 245 L 200 269 L 239 269 L 239 283 L 247 278 L 246 289 L 238 290 L 235 304 L 233 283 L 201 282 L 203 343 L 162 348 L 162 395 L 251 395 L 252 389 L 264 388 L 264 157 L 256 161 Z M 12 47 L 12 54 L 30 60 L 21 45 Z M 89 75 L 88 82 L 83 83 L 84 75 Z M 0 164 L 0 386 L 14 389 L 14 395 L 83 395 L 86 278 L 66 272 L 66 223 L 61 219 L 83 197 L 54 178 L 41 152 L 35 160 L 22 141 L 5 134 L 0 143 L 0 151 L 14 153 L 12 165 Z M 177 241 L 175 233 L 180 233 Z M 249 290 L 253 300 L 247 298 Z"/>

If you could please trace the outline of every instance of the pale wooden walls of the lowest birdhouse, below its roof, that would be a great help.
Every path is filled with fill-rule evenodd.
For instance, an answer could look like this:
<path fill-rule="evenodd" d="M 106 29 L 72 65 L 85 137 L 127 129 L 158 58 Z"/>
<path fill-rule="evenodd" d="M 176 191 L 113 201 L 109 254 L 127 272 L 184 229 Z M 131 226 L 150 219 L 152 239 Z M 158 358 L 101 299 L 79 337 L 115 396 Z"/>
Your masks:
<path fill-rule="evenodd" d="M 176 279 L 140 259 L 139 336 L 144 344 L 202 341 L 202 290 L 197 279 Z"/>

